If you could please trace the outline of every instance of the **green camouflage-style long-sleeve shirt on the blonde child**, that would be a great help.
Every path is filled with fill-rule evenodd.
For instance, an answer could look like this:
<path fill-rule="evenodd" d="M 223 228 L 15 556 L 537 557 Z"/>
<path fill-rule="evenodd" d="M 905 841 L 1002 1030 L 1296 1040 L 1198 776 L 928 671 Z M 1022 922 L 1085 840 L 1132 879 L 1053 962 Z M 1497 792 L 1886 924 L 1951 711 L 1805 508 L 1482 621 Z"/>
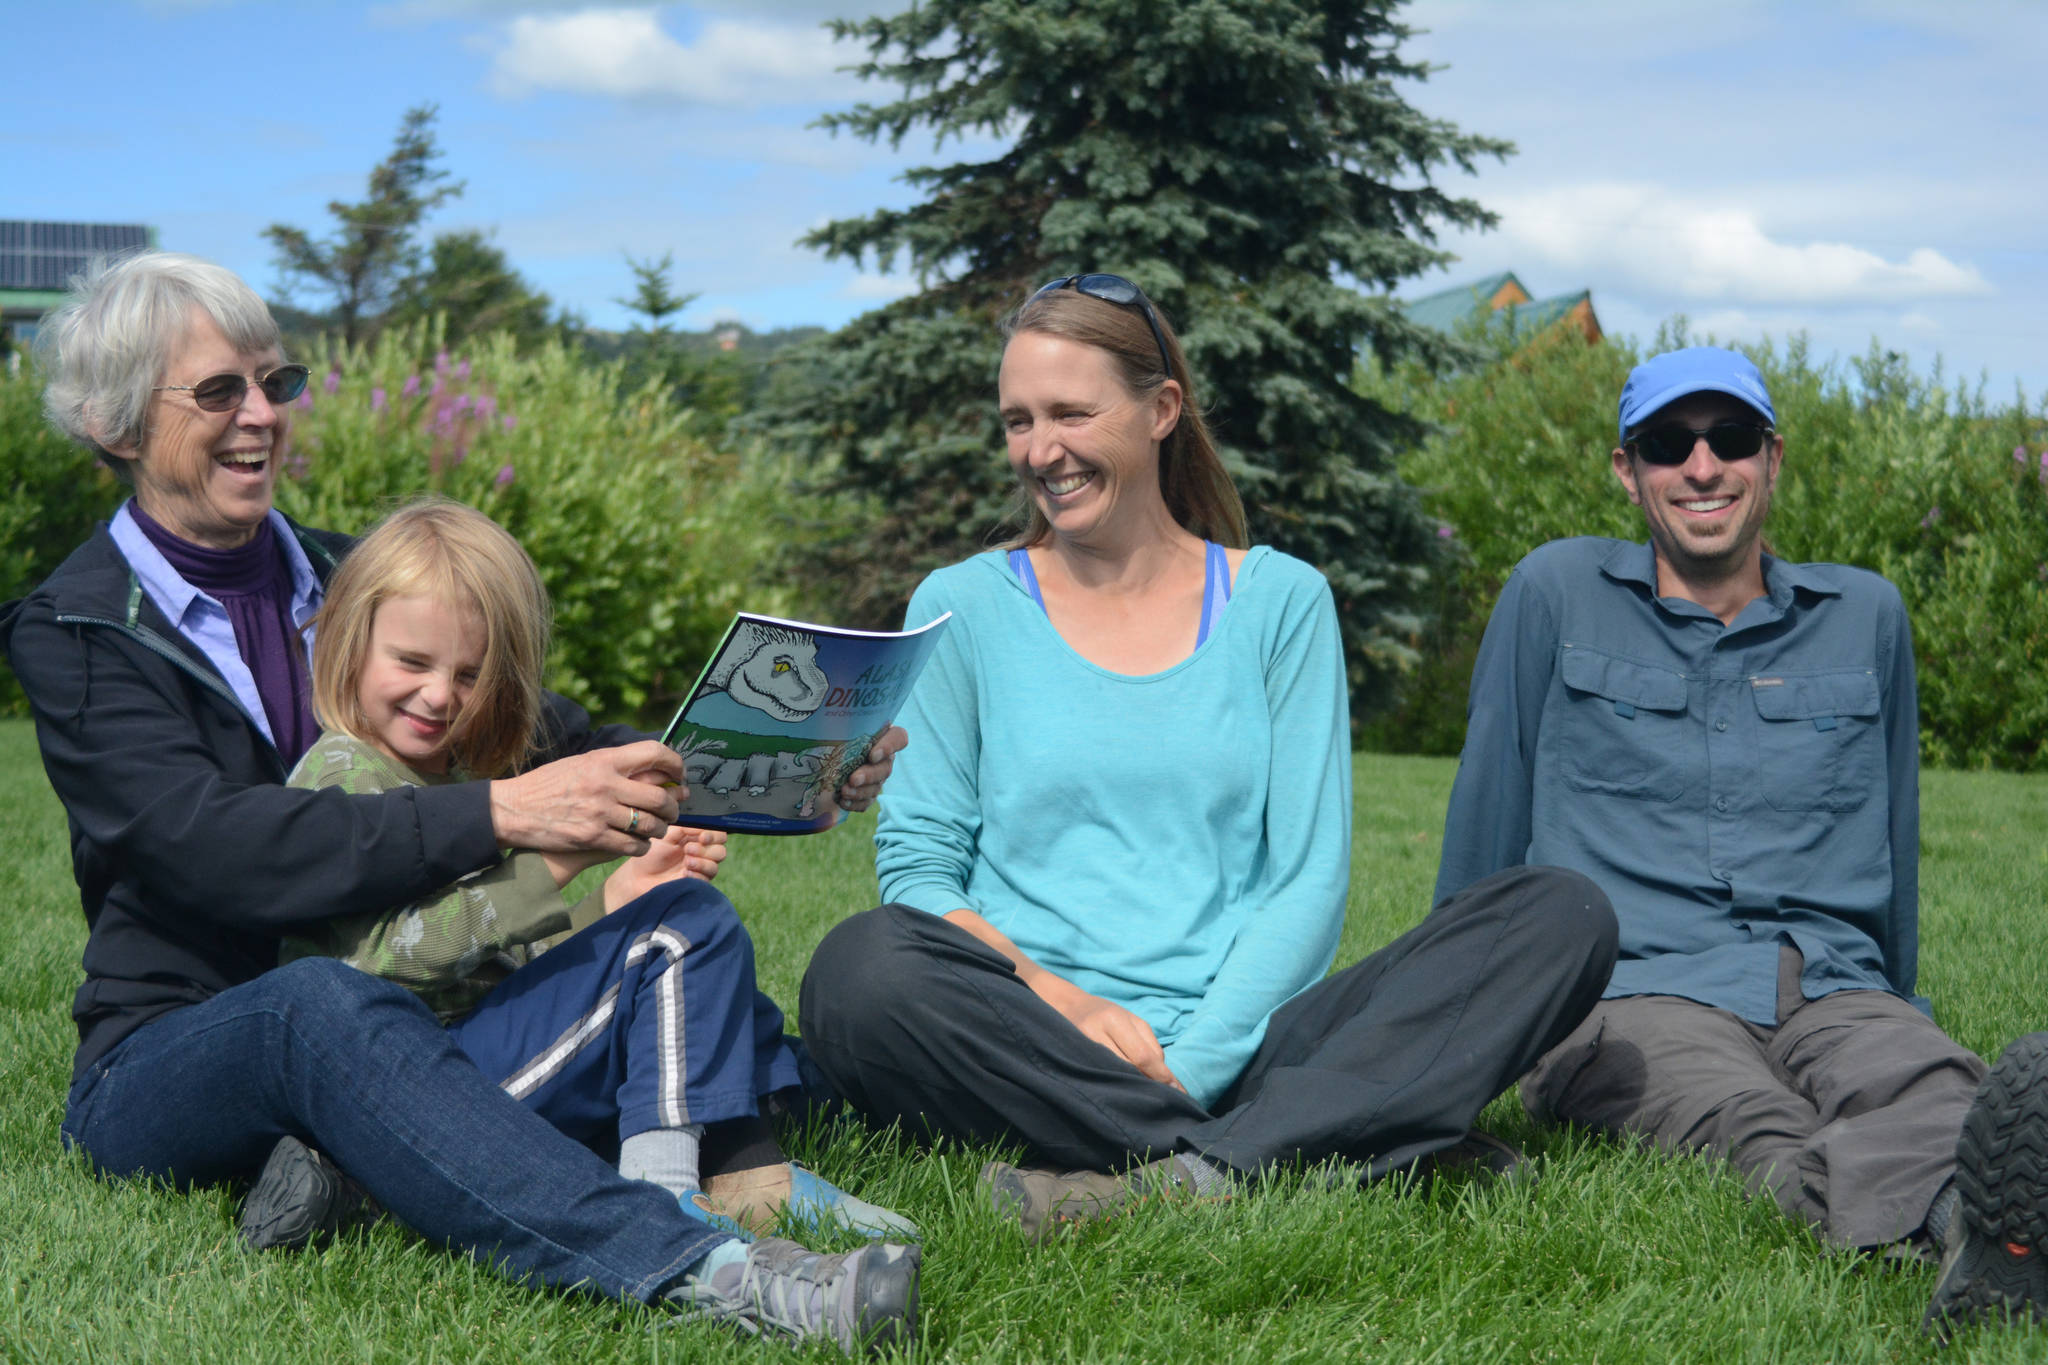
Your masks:
<path fill-rule="evenodd" d="M 328 731 L 299 759 L 291 786 L 338 786 L 352 794 L 399 786 L 438 786 L 377 749 Z M 512 851 L 496 868 L 461 878 L 436 894 L 391 911 L 338 915 L 311 933 L 287 937 L 279 962 L 342 958 L 416 993 L 442 1019 L 459 1019 L 492 986 L 530 962 L 543 939 L 559 937 L 604 913 L 602 892 L 563 900 L 555 874 L 532 851 Z"/>

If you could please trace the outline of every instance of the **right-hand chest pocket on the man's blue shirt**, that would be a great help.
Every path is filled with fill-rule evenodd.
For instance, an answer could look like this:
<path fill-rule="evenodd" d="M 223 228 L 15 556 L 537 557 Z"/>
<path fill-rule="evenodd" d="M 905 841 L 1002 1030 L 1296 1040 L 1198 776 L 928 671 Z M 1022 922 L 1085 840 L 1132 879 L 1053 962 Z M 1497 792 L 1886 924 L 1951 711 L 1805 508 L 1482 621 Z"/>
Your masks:
<path fill-rule="evenodd" d="M 1870 669 L 1751 677 L 1757 772 L 1778 810 L 1858 810 L 1878 786 L 1878 679 Z"/>

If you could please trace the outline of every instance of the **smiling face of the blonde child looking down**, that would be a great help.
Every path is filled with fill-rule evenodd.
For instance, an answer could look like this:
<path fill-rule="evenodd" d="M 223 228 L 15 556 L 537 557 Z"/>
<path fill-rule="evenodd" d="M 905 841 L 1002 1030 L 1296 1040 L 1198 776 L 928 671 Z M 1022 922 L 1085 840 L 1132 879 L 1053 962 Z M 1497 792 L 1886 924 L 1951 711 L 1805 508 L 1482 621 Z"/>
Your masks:
<path fill-rule="evenodd" d="M 481 614 L 438 598 L 385 598 L 356 679 L 369 739 L 399 763 L 446 774 L 455 718 L 481 671 Z"/>

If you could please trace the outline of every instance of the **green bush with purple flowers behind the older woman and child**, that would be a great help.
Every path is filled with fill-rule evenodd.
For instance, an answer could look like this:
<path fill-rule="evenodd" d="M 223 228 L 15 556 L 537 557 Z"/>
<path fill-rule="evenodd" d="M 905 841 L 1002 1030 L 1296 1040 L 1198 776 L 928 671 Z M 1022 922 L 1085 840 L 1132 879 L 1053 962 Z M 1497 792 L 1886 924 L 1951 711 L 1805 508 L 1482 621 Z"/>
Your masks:
<path fill-rule="evenodd" d="M 373 348 L 330 344 L 293 405 L 276 505 L 365 530 L 422 491 L 498 518 L 555 600 L 549 686 L 602 718 L 666 720 L 733 610 L 788 614 L 764 581 L 780 467 L 709 448 L 659 385 L 561 344 L 520 356 L 506 334 L 440 352 L 432 323 Z M 416 356 L 436 356 L 416 364 Z M 0 587 L 18 596 L 119 505 L 123 489 L 43 424 L 41 385 L 0 381 Z M 23 710 L 14 679 L 0 704 Z"/>

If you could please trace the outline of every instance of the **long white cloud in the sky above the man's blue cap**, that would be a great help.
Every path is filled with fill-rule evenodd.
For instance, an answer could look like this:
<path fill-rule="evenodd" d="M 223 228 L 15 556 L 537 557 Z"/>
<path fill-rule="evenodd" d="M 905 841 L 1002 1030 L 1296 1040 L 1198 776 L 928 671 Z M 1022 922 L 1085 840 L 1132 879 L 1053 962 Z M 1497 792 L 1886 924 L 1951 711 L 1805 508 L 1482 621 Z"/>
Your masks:
<path fill-rule="evenodd" d="M 1726 196 L 1716 196 L 1726 205 Z M 1886 260 L 1847 241 L 1778 241 L 1757 215 L 1655 184 L 1579 184 L 1491 201 L 1518 258 L 1704 303 L 1903 303 L 1991 293 L 1921 246 Z"/>

